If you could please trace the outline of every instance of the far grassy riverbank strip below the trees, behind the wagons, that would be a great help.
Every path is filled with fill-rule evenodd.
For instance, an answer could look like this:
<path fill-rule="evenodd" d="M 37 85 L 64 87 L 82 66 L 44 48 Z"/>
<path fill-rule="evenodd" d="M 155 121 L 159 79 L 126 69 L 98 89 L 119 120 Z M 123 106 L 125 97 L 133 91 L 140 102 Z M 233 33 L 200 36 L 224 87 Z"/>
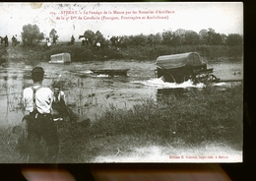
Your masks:
<path fill-rule="evenodd" d="M 2 47 L 3 48 L 3 47 Z M 1 56 L 7 61 L 23 61 L 26 64 L 33 65 L 38 61 L 49 61 L 52 54 L 68 52 L 71 54 L 73 62 L 87 62 L 98 60 L 156 60 L 160 55 L 176 54 L 184 52 L 198 52 L 201 57 L 207 61 L 241 61 L 243 56 L 242 46 L 224 46 L 224 45 L 154 45 L 154 46 L 129 46 L 129 47 L 95 47 L 57 44 L 47 47 L 46 45 L 36 45 L 32 47 L 16 46 L 9 47 L 8 56 Z M 7 57 L 7 58 L 6 58 Z M 1 60 L 2 61 L 2 60 Z M 2 61 L 3 62 L 3 61 Z"/>

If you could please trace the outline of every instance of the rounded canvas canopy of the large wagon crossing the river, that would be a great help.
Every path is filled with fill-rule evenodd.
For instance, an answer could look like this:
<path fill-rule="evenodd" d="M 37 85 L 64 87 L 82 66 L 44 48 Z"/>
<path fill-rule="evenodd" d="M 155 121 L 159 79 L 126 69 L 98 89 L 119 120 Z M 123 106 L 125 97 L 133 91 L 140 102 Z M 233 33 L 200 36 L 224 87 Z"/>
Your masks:
<path fill-rule="evenodd" d="M 162 55 L 157 59 L 157 66 L 160 69 L 178 68 L 187 65 L 200 66 L 202 64 L 205 64 L 205 62 L 203 62 L 200 55 L 195 52 Z"/>

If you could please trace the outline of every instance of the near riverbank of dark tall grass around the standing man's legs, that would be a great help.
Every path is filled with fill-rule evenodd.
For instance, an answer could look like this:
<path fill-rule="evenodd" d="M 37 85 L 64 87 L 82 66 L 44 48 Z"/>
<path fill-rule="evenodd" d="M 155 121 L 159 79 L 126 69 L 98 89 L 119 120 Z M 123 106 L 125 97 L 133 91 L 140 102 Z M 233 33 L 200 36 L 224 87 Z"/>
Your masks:
<path fill-rule="evenodd" d="M 90 162 L 96 156 L 131 153 L 134 148 L 194 148 L 218 143 L 242 150 L 242 86 L 223 90 L 211 86 L 189 96 L 151 98 L 131 109 L 110 106 L 91 126 L 59 124 L 59 162 Z M 22 130 L 1 128 L 0 161 L 26 162 Z M 41 143 L 42 146 L 44 143 Z"/>

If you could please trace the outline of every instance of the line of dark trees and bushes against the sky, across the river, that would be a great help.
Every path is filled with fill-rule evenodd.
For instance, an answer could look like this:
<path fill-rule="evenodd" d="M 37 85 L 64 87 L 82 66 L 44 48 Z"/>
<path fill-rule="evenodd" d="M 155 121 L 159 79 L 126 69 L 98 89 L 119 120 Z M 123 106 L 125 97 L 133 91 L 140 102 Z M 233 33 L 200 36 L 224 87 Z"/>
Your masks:
<path fill-rule="evenodd" d="M 73 35 L 72 35 L 73 36 Z M 49 36 L 46 37 L 43 32 L 40 32 L 36 25 L 25 25 L 22 31 L 22 39 L 25 45 L 35 45 L 42 39 L 46 39 L 48 42 L 56 44 L 59 38 L 57 30 L 50 30 Z M 243 35 L 239 33 L 219 33 L 214 29 L 203 29 L 197 33 L 194 30 L 178 29 L 163 30 L 156 34 L 145 35 L 143 33 L 137 35 L 121 35 L 111 36 L 109 39 L 104 38 L 103 34 L 96 30 L 85 30 L 84 34 L 79 35 L 79 39 L 82 39 L 82 45 L 94 46 L 100 43 L 100 46 L 116 46 L 116 47 L 128 47 L 128 46 L 153 46 L 153 45 L 227 45 L 235 46 L 243 44 Z M 72 40 L 71 40 L 72 41 Z M 73 43 L 74 44 L 74 39 Z"/>

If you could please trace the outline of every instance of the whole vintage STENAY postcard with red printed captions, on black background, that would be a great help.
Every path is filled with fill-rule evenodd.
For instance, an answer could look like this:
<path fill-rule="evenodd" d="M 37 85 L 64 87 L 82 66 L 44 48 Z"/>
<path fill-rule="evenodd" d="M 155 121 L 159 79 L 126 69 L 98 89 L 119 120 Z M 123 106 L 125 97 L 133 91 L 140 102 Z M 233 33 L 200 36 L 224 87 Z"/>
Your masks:
<path fill-rule="evenodd" d="M 0 3 L 0 162 L 242 162 L 243 3 Z"/>

